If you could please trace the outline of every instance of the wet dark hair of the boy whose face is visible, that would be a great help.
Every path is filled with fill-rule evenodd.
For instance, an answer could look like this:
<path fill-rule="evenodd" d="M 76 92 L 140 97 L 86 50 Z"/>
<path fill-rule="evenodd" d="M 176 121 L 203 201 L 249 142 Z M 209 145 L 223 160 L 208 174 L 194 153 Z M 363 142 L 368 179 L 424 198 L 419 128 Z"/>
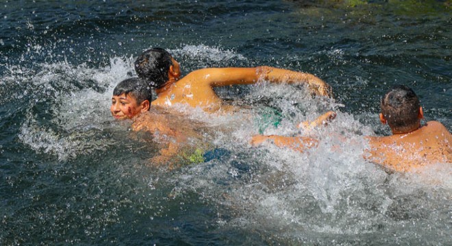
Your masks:
<path fill-rule="evenodd" d="M 145 81 L 140 78 L 125 79 L 116 85 L 113 90 L 113 96 L 119 96 L 121 94 L 133 96 L 140 104 L 144 100 L 152 101 L 151 87 L 147 85 Z"/>

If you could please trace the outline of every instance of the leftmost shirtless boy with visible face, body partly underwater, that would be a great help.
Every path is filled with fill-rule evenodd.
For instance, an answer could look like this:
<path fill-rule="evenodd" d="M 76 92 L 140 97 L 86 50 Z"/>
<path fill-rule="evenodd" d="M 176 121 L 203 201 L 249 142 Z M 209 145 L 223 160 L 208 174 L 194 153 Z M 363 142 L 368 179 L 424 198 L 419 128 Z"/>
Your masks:
<path fill-rule="evenodd" d="M 110 111 L 118 120 L 132 120 L 134 131 L 149 131 L 162 143 L 160 155 L 155 156 L 155 163 L 163 163 L 177 155 L 184 154 L 194 158 L 190 151 L 201 150 L 205 143 L 194 131 L 199 128 L 196 122 L 168 114 L 159 107 L 150 107 L 151 91 L 145 81 L 138 78 L 125 79 L 116 85 L 112 96 Z M 191 148 L 190 145 L 196 146 Z"/>

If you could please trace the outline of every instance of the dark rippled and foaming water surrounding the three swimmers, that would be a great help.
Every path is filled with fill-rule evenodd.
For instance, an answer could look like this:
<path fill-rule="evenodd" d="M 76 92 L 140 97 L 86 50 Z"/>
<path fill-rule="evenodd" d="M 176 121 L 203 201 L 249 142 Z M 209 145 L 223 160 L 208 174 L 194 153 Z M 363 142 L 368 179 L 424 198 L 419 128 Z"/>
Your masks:
<path fill-rule="evenodd" d="M 370 2 L 370 3 L 368 3 Z M 1 245 L 450 245 L 451 165 L 386 174 L 362 135 L 387 135 L 379 98 L 412 87 L 426 120 L 452 129 L 451 1 L 3 1 L 0 6 Z M 109 113 L 112 88 L 151 46 L 183 73 L 211 66 L 311 72 L 303 88 L 218 89 L 278 109 L 268 134 L 325 110 L 336 131 L 299 154 L 250 148 L 242 115 L 194 111 L 219 129 L 214 159 L 168 172 L 150 136 Z M 345 107 L 340 107 L 345 105 Z M 215 154 L 214 154 L 215 155 Z"/>

